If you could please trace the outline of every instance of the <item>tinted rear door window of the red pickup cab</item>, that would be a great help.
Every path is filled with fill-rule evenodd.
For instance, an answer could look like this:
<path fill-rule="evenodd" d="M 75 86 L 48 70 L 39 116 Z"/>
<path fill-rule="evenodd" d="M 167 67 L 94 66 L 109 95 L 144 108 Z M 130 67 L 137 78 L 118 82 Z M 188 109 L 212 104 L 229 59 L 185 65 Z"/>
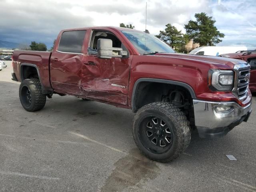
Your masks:
<path fill-rule="evenodd" d="M 58 51 L 68 53 L 81 53 L 86 30 L 65 31 L 60 37 Z"/>

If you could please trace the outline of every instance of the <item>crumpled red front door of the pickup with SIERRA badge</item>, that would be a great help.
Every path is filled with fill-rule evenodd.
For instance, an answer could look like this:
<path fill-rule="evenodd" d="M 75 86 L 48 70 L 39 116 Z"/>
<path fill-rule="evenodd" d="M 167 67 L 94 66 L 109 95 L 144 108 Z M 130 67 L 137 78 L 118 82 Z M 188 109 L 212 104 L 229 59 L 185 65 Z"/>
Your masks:
<path fill-rule="evenodd" d="M 82 59 L 83 96 L 127 104 L 132 54 L 120 39 L 111 31 L 92 30 L 88 54 Z"/>

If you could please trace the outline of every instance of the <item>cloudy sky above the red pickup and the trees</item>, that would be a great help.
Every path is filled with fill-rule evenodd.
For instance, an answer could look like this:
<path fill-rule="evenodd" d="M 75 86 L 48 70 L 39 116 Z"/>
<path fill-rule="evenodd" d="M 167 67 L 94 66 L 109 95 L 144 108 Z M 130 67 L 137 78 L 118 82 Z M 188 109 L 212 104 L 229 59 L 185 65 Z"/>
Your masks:
<path fill-rule="evenodd" d="M 206 12 L 225 34 L 222 46 L 256 48 L 256 0 L 0 0 L 0 40 L 48 49 L 66 28 L 132 24 L 158 34 L 170 23 L 185 33 L 194 14 Z"/>

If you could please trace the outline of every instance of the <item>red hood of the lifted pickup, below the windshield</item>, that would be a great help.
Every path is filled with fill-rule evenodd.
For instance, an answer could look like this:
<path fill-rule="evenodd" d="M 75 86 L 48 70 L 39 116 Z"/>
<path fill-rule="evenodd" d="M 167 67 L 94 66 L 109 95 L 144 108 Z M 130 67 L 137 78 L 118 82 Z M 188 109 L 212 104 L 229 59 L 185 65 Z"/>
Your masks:
<path fill-rule="evenodd" d="M 216 56 L 200 56 L 200 55 L 191 55 L 191 54 L 178 54 L 178 53 L 156 53 L 154 56 L 157 57 L 170 57 L 178 58 L 181 60 L 191 60 L 191 62 L 202 62 L 204 64 L 214 65 L 217 68 L 234 68 L 236 64 L 246 63 L 243 60 L 225 58 L 225 57 L 216 57 Z"/>

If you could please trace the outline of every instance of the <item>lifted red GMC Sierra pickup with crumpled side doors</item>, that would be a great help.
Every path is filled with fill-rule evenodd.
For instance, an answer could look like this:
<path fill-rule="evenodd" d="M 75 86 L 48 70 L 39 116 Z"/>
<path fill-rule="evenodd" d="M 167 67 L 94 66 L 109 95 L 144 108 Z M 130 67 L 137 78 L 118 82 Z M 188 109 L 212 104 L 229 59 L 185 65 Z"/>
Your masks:
<path fill-rule="evenodd" d="M 148 31 L 62 30 L 52 52 L 14 50 L 13 70 L 27 111 L 42 109 L 53 94 L 131 109 L 134 141 L 160 162 L 184 152 L 191 129 L 218 138 L 252 111 L 248 63 L 178 54 Z"/>

